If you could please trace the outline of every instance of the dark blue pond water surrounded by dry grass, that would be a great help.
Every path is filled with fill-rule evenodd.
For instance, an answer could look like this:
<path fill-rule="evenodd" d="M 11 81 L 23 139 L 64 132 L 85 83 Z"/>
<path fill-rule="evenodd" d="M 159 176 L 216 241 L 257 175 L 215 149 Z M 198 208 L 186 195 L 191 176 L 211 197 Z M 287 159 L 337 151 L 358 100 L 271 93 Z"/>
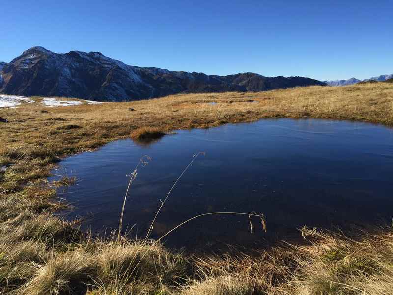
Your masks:
<path fill-rule="evenodd" d="M 213 215 L 194 220 L 168 236 L 175 247 L 260 245 L 300 236 L 296 228 L 348 228 L 389 221 L 393 216 L 393 129 L 369 123 L 265 119 L 211 129 L 180 130 L 149 146 L 112 142 L 95 152 L 63 160 L 56 175 L 78 184 L 61 197 L 75 206 L 68 218 L 84 217 L 95 232 L 117 228 L 130 174 L 140 167 L 125 208 L 123 226 L 143 236 L 193 154 L 161 214 L 153 237 L 180 222 L 214 211 L 261 212 L 267 233 L 247 216 Z M 58 176 L 51 177 L 56 179 Z"/>

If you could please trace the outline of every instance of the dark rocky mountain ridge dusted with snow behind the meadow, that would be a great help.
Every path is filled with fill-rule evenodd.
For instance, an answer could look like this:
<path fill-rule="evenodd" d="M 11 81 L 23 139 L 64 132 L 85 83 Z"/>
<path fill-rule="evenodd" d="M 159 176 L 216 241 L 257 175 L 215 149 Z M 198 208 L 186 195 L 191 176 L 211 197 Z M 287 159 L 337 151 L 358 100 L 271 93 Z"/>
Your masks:
<path fill-rule="evenodd" d="M 137 67 L 100 52 L 64 54 L 32 47 L 0 69 L 0 93 L 65 96 L 96 101 L 129 101 L 175 93 L 265 91 L 326 85 L 304 77 L 264 77 L 255 73 L 228 76 Z"/>

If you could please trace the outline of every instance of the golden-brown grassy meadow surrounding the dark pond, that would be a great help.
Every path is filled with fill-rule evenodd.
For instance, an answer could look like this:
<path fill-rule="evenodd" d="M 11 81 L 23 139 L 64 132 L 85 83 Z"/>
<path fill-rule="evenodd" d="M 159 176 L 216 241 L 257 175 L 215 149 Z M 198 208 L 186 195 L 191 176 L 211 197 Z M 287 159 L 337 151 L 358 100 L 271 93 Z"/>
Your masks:
<path fill-rule="evenodd" d="M 261 118 L 393 126 L 392 83 L 179 94 L 66 107 L 44 107 L 40 98 L 33 99 L 36 103 L 0 109 L 0 117 L 8 120 L 0 122 L 0 168 L 7 167 L 0 170 L 0 294 L 393 294 L 392 226 L 351 235 L 303 228 L 301 246 L 282 242 L 250 253 L 185 255 L 157 241 L 84 233 L 80 221 L 53 214 L 67 206 L 56 197 L 56 185 L 76 179 L 46 180 L 64 156 L 176 129 Z"/>

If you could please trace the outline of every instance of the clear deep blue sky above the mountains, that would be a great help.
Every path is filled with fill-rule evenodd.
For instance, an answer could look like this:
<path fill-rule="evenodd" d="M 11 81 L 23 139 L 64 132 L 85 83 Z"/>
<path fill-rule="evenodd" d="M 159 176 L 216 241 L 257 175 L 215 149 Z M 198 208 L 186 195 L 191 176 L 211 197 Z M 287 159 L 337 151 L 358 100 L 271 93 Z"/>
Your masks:
<path fill-rule="evenodd" d="M 40 45 L 219 75 L 393 73 L 393 0 L 0 0 L 0 7 L 0 61 Z"/>

